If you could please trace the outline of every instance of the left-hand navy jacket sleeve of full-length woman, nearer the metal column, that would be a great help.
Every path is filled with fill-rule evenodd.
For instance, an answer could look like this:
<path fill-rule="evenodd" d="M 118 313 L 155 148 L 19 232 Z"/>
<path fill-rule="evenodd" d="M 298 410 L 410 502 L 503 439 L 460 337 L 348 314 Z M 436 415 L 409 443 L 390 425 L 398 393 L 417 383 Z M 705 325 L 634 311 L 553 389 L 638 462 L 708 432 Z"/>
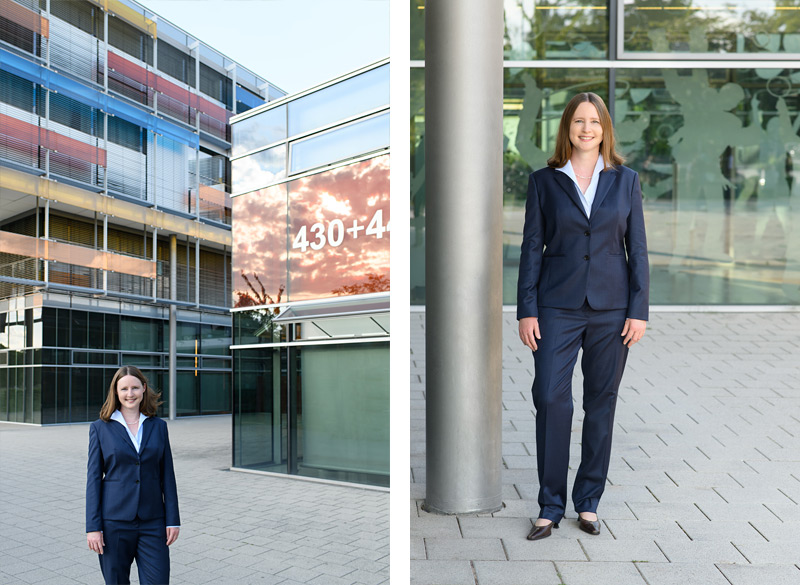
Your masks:
<path fill-rule="evenodd" d="M 544 217 L 533 174 L 528 178 L 525 226 L 517 279 L 517 319 L 539 316 L 539 273 L 544 247 Z"/>

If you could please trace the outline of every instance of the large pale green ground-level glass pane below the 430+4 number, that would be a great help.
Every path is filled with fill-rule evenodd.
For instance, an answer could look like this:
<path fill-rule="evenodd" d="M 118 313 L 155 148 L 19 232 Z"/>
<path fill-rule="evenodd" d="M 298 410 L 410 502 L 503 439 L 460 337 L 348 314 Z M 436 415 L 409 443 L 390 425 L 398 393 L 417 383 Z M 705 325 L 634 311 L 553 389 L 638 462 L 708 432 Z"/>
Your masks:
<path fill-rule="evenodd" d="M 389 485 L 389 344 L 299 353 L 297 473 Z"/>

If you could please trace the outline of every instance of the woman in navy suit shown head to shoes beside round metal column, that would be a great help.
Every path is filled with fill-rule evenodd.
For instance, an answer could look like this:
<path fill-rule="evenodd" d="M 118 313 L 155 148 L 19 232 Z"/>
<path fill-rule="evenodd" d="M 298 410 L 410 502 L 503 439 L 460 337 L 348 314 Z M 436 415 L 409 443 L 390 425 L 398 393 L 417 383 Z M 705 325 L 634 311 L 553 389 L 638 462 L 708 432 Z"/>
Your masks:
<path fill-rule="evenodd" d="M 566 508 L 579 349 L 584 421 L 572 502 L 581 530 L 600 533 L 597 505 L 617 391 L 628 349 L 644 335 L 649 306 L 639 176 L 623 162 L 603 100 L 582 93 L 561 116 L 548 166 L 528 181 L 517 319 L 535 365 L 540 512 L 529 540 L 550 536 Z"/>

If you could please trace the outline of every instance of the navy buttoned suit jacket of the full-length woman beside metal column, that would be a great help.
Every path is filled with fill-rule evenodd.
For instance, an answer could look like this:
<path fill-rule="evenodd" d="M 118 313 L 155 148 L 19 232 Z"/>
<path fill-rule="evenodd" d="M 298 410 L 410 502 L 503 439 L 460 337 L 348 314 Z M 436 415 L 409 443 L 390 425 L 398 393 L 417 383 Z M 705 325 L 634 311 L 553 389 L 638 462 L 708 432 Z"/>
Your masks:
<path fill-rule="evenodd" d="M 639 175 L 600 173 L 589 217 L 575 183 L 547 167 L 530 175 L 525 205 L 517 319 L 538 307 L 627 309 L 648 318 L 650 271 Z"/>

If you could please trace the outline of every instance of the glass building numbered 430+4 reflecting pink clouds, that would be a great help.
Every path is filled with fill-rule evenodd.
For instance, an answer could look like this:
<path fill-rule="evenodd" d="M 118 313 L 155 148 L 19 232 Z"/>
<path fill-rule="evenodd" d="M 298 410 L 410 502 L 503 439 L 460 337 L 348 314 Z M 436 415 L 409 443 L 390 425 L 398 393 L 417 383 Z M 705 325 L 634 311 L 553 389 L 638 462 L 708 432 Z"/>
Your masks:
<path fill-rule="evenodd" d="M 233 466 L 389 484 L 389 63 L 233 130 Z"/>

